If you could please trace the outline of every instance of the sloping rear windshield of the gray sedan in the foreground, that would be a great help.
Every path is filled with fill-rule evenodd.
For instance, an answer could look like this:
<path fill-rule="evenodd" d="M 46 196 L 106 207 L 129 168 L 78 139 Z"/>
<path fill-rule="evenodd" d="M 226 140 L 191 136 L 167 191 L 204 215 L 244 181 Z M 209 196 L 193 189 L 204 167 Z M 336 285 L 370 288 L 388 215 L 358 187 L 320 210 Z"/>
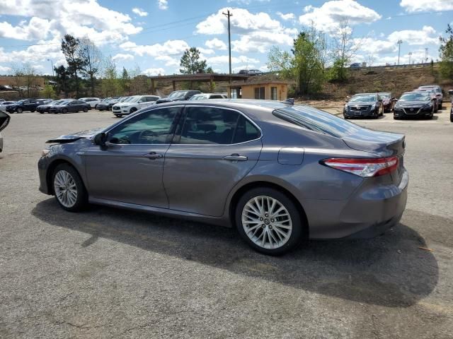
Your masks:
<path fill-rule="evenodd" d="M 309 106 L 292 106 L 275 109 L 275 117 L 301 126 L 304 129 L 317 131 L 329 136 L 343 138 L 357 133 L 361 127 L 352 122 L 340 119 L 333 114 Z"/>

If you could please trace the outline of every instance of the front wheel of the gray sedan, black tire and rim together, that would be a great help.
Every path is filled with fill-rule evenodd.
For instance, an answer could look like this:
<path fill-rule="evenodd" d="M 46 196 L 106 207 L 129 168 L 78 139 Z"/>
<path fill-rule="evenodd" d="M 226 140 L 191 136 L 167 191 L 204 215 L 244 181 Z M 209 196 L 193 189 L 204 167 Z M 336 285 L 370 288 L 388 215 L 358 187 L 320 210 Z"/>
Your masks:
<path fill-rule="evenodd" d="M 68 186 L 73 189 L 68 190 Z M 88 203 L 84 182 L 76 169 L 69 164 L 60 164 L 55 168 L 52 174 L 52 189 L 59 206 L 69 212 L 83 210 Z"/>

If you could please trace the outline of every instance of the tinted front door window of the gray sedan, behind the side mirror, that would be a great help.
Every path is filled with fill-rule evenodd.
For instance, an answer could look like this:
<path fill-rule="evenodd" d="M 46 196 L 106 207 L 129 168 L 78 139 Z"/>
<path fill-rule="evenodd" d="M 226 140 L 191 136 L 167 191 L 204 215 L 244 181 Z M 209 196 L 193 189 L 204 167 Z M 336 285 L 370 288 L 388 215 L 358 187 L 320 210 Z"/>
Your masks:
<path fill-rule="evenodd" d="M 179 109 L 166 107 L 139 114 L 110 131 L 108 141 L 119 144 L 166 143 Z"/>

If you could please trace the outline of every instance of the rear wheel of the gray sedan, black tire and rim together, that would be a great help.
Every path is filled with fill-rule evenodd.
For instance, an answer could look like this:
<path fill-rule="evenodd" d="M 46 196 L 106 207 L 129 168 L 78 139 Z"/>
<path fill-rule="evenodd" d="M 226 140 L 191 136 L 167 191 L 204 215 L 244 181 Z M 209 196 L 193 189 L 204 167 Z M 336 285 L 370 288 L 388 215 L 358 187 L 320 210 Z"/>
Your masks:
<path fill-rule="evenodd" d="M 261 200 L 260 198 L 263 198 L 263 200 Z M 273 208 L 274 212 L 276 211 L 276 209 L 278 210 L 278 208 L 284 208 L 284 210 L 280 211 L 280 213 L 278 214 L 282 215 L 282 213 L 286 213 L 286 215 L 278 216 L 277 218 L 288 219 L 287 221 L 280 221 L 280 226 L 275 225 L 278 220 L 277 218 L 271 218 L 271 214 L 263 213 L 261 216 L 253 213 L 250 207 L 255 206 L 255 210 L 258 211 L 256 202 L 258 201 L 258 203 L 263 203 L 265 210 L 268 210 L 269 206 L 266 202 L 267 199 L 270 199 L 270 202 L 275 201 L 275 207 Z M 255 219 L 256 222 L 253 222 L 252 220 Z M 241 234 L 241 237 L 243 237 L 243 239 L 253 249 L 263 254 L 283 254 L 294 248 L 294 246 L 299 244 L 302 239 L 302 230 L 304 225 L 302 225 L 302 218 L 299 214 L 297 206 L 295 206 L 290 198 L 288 198 L 282 192 L 277 191 L 276 189 L 270 189 L 266 187 L 256 188 L 251 189 L 250 191 L 247 191 L 245 194 L 243 194 L 236 205 L 235 220 L 236 227 L 239 231 L 239 234 Z M 251 226 L 247 226 L 247 223 L 244 222 L 246 220 L 251 221 L 248 223 L 248 225 Z M 262 225 L 258 225 L 256 228 L 253 228 L 254 226 L 256 226 L 253 224 L 258 224 L 260 222 L 263 222 Z M 249 229 L 248 232 L 246 232 L 246 230 L 244 229 L 244 225 Z M 291 227 L 291 229 L 288 230 L 288 227 Z M 250 235 L 250 237 L 248 234 Z M 271 237 L 268 234 L 270 234 Z M 258 244 L 260 242 L 260 239 L 262 240 L 261 242 L 264 241 L 264 244 Z M 279 243 L 280 245 L 275 247 Z"/>

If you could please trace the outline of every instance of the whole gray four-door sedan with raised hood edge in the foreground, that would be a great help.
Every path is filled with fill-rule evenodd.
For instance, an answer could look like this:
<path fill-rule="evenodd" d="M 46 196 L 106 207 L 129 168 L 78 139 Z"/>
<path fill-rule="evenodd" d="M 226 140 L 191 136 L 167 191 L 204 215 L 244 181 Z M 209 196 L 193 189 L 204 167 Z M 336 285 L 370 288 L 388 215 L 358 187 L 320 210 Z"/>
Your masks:
<path fill-rule="evenodd" d="M 292 102 L 171 102 L 47 142 L 40 191 L 65 210 L 97 203 L 234 226 L 265 254 L 307 237 L 373 237 L 406 207 L 403 135 Z"/>

